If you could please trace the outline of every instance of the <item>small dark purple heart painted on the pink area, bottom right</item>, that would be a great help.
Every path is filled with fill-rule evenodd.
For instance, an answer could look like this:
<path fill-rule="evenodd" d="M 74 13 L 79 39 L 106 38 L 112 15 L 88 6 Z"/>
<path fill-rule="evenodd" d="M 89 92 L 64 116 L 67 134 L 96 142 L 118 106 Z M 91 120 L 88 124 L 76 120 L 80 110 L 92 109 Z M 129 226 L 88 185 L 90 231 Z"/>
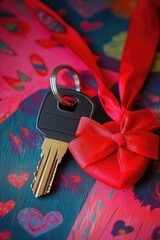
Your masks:
<path fill-rule="evenodd" d="M 126 226 L 123 220 L 118 220 L 115 222 L 111 233 L 113 237 L 115 237 L 118 235 L 125 235 L 133 231 L 134 231 L 134 228 L 132 226 Z"/>

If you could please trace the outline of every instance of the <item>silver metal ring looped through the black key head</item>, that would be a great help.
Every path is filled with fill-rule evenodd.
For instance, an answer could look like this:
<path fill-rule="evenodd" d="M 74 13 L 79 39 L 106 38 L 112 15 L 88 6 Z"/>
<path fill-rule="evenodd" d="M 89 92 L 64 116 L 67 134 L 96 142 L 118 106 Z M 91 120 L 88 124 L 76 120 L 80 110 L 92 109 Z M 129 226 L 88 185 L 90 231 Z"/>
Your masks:
<path fill-rule="evenodd" d="M 61 94 L 58 92 L 58 89 L 57 89 L 57 75 L 58 75 L 58 72 L 64 68 L 67 68 L 69 69 L 72 74 L 73 74 L 73 79 L 74 79 L 74 82 L 75 82 L 75 86 L 76 86 L 76 91 L 80 92 L 81 90 L 81 85 L 80 85 L 80 80 L 79 80 L 79 77 L 78 77 L 78 74 L 77 72 L 74 70 L 74 68 L 72 68 L 71 66 L 69 65 L 59 65 L 57 66 L 52 74 L 51 74 L 51 77 L 50 77 L 50 85 L 51 85 L 51 90 L 55 96 L 55 98 L 60 102 L 60 104 L 62 104 L 63 106 L 70 106 L 72 107 L 75 103 L 73 102 L 69 102 L 67 100 L 65 100 Z"/>

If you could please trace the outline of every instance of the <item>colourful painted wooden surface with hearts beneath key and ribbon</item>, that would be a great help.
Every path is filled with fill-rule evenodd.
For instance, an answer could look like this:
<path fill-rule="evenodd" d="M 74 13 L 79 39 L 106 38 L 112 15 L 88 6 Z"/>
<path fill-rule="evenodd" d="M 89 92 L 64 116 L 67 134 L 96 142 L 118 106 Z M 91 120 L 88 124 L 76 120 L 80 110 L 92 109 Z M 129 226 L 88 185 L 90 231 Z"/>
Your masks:
<path fill-rule="evenodd" d="M 130 6 L 135 1 L 123 1 L 123 8 L 121 1 L 109 0 L 43 2 L 84 37 L 104 67 L 106 83 L 117 94 Z M 83 91 L 97 103 L 95 119 L 103 123 L 109 118 L 96 96 L 94 76 L 40 28 L 23 1 L 0 2 L 0 32 L 0 239 L 160 239 L 159 161 L 151 160 L 135 186 L 116 191 L 85 174 L 68 152 L 51 194 L 34 197 L 30 184 L 43 142 L 36 118 L 52 69 L 64 59 L 78 68 Z M 160 120 L 159 50 L 135 108 L 150 107 Z M 59 84 L 73 86 L 68 72 Z"/>

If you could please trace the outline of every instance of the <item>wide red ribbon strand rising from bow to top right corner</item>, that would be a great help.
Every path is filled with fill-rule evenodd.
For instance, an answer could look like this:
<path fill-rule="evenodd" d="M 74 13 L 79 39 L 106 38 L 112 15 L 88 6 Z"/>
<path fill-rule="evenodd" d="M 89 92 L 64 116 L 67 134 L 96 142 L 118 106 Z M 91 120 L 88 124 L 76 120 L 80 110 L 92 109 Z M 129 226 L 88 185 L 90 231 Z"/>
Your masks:
<path fill-rule="evenodd" d="M 139 0 L 131 18 L 120 66 L 122 106 L 131 109 L 152 65 L 159 42 L 159 19 L 153 0 Z"/>

